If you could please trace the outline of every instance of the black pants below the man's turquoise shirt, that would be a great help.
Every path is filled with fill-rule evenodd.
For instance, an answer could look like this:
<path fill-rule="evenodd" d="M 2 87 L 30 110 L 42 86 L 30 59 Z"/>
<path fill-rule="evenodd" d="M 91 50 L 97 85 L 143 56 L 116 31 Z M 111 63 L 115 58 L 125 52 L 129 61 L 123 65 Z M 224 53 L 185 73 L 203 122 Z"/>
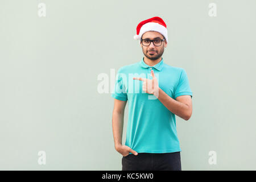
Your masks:
<path fill-rule="evenodd" d="M 181 171 L 180 152 L 129 154 L 122 158 L 122 171 Z"/>

